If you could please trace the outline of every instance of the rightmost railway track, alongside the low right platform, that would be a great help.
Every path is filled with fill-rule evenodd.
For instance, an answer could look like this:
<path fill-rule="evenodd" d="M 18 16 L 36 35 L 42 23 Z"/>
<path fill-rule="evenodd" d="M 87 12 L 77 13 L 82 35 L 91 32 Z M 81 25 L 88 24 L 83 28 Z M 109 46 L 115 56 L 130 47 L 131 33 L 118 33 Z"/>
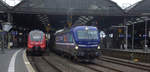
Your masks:
<path fill-rule="evenodd" d="M 105 56 L 102 56 L 98 60 L 102 60 L 102 61 L 106 61 L 106 62 L 110 62 L 110 63 L 114 63 L 114 64 L 119 64 L 119 65 L 123 65 L 123 66 L 128 66 L 131 68 L 141 69 L 143 71 L 150 72 L 150 66 L 142 65 L 140 63 L 133 63 L 133 62 L 129 62 L 129 61 L 127 62 L 127 61 L 114 59 L 114 58 L 110 58 L 110 57 L 105 57 Z"/>

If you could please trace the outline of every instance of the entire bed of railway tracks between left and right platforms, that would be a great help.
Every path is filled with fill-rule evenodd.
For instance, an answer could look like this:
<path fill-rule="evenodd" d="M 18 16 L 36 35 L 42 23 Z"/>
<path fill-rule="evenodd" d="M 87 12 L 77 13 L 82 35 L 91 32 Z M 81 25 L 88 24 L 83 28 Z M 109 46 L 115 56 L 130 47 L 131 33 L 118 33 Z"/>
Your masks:
<path fill-rule="evenodd" d="M 122 70 L 121 68 L 126 67 L 131 67 L 130 69 L 133 67 L 137 68 L 137 72 L 150 72 L 149 66 L 143 67 L 144 65 L 139 66 L 138 64 L 107 57 L 101 57 L 100 59 L 97 59 L 91 63 L 76 63 L 55 54 L 39 57 L 29 56 L 28 59 L 33 67 L 37 70 L 36 72 L 125 72 L 126 70 Z M 118 65 L 122 67 L 117 68 Z M 135 69 L 128 72 L 133 72 L 134 70 Z"/>

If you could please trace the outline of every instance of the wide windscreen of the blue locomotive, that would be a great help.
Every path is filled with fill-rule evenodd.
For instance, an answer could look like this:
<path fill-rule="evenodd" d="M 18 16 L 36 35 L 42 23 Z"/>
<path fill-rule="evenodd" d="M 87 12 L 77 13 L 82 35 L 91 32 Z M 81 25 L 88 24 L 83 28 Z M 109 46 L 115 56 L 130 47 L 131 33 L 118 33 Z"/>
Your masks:
<path fill-rule="evenodd" d="M 96 30 L 78 30 L 78 39 L 97 40 L 98 32 Z"/>

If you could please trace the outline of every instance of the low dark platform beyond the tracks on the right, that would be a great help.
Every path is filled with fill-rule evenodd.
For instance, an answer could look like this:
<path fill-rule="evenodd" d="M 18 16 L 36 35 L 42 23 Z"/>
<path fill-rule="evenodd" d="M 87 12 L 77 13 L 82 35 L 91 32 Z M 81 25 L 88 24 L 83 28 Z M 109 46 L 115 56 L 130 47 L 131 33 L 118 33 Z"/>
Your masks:
<path fill-rule="evenodd" d="M 150 49 L 101 49 L 102 55 L 150 63 Z"/>

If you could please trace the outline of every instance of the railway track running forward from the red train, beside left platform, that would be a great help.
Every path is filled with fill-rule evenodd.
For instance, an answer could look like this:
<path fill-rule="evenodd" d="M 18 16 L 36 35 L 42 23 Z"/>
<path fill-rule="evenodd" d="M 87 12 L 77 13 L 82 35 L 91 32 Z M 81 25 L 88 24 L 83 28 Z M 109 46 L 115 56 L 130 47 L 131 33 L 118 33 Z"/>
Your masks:
<path fill-rule="evenodd" d="M 40 57 L 30 56 L 28 59 L 36 72 L 95 72 L 77 66 L 77 64 L 73 65 L 67 59 L 62 59 L 54 54 Z"/>

